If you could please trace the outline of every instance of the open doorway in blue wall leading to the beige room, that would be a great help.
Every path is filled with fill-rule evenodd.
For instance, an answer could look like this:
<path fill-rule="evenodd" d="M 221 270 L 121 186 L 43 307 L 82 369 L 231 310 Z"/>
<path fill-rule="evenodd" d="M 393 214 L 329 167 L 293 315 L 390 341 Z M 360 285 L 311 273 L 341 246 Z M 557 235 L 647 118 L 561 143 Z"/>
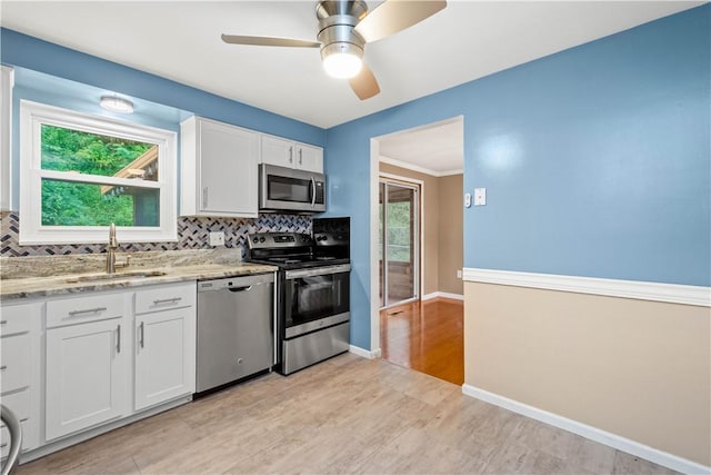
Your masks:
<path fill-rule="evenodd" d="M 463 117 L 373 137 L 370 145 L 371 355 L 462 384 Z M 417 210 L 404 205 L 413 188 Z M 389 231 L 388 211 L 399 229 Z M 398 212 L 413 214 L 419 229 L 393 222 Z M 399 241 L 403 236 L 410 240 Z M 398 285 L 410 269 L 413 281 Z"/>

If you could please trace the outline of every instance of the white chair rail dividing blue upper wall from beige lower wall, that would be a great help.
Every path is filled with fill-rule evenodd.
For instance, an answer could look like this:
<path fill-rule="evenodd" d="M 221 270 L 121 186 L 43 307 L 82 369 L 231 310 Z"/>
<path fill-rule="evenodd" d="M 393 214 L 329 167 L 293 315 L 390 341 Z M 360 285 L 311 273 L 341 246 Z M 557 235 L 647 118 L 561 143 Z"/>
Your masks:
<path fill-rule="evenodd" d="M 464 268 L 464 281 L 711 307 L 711 287 Z"/>

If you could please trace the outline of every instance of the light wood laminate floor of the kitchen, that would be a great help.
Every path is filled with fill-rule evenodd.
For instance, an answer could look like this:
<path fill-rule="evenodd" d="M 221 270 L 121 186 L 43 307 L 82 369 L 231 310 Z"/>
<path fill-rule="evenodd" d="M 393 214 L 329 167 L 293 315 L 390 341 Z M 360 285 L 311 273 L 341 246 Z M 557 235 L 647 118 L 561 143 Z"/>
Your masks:
<path fill-rule="evenodd" d="M 270 374 L 21 465 L 30 474 L 669 474 L 463 396 L 461 387 L 344 354 Z"/>

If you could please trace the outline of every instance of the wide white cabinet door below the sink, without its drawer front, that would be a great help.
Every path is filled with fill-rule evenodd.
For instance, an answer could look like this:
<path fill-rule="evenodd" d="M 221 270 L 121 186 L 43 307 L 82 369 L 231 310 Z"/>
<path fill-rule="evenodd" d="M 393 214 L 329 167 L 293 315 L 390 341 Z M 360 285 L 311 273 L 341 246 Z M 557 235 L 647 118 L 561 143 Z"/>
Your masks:
<path fill-rule="evenodd" d="M 124 414 L 127 329 L 112 318 L 47 330 L 47 441 Z"/>

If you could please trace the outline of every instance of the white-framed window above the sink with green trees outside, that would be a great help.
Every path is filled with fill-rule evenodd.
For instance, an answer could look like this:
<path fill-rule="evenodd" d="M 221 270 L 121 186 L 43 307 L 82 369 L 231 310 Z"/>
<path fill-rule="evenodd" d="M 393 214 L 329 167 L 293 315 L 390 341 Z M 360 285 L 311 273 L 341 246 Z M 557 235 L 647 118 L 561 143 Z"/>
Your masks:
<path fill-rule="evenodd" d="M 176 132 L 20 102 L 20 244 L 177 239 Z"/>

